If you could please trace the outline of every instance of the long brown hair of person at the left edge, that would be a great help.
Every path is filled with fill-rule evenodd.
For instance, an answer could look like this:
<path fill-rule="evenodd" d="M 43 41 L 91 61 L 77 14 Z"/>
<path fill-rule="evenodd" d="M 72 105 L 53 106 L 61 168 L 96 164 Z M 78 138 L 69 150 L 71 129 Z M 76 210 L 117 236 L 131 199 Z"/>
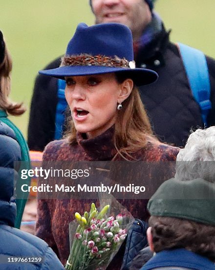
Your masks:
<path fill-rule="evenodd" d="M 4 60 L 0 64 L 0 109 L 11 115 L 21 115 L 26 111 L 22 103 L 9 99 L 11 89 L 12 59 L 5 45 Z"/>

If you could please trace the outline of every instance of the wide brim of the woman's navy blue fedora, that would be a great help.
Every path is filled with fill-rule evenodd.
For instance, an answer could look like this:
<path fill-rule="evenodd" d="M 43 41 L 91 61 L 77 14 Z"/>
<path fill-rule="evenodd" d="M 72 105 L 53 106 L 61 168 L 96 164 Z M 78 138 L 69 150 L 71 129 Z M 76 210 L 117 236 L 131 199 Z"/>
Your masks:
<path fill-rule="evenodd" d="M 127 73 L 135 85 L 142 86 L 155 82 L 158 74 L 147 68 L 123 68 L 123 67 L 102 67 L 102 66 L 65 66 L 47 70 L 40 70 L 39 73 L 64 80 L 69 76 L 86 76 L 93 74 L 123 72 Z"/>

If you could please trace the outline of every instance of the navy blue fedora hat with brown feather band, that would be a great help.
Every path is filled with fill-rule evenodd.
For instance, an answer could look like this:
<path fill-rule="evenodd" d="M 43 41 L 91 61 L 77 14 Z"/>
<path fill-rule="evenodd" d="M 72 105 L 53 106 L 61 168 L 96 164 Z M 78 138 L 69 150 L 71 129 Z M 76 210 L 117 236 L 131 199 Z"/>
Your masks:
<path fill-rule="evenodd" d="M 63 80 L 69 76 L 112 72 L 128 73 L 137 86 L 151 84 L 158 77 L 153 70 L 135 68 L 131 31 L 120 23 L 78 24 L 61 66 L 39 71 Z"/>

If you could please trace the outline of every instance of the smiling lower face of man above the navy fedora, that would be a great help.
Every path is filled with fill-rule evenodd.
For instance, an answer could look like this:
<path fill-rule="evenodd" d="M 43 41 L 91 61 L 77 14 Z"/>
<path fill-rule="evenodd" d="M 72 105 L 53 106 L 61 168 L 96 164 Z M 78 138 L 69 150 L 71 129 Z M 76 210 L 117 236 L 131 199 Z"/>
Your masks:
<path fill-rule="evenodd" d="M 133 38 L 141 35 L 151 21 L 151 11 L 144 0 L 92 0 L 96 23 L 118 22 L 127 25 Z"/>

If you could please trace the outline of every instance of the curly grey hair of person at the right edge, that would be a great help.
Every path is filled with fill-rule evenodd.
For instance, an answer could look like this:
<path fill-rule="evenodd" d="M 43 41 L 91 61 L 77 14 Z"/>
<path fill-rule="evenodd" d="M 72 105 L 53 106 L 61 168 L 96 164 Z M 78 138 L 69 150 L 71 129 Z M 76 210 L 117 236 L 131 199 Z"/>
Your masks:
<path fill-rule="evenodd" d="M 189 136 L 177 155 L 175 178 L 215 182 L 215 126 L 197 129 Z"/>

